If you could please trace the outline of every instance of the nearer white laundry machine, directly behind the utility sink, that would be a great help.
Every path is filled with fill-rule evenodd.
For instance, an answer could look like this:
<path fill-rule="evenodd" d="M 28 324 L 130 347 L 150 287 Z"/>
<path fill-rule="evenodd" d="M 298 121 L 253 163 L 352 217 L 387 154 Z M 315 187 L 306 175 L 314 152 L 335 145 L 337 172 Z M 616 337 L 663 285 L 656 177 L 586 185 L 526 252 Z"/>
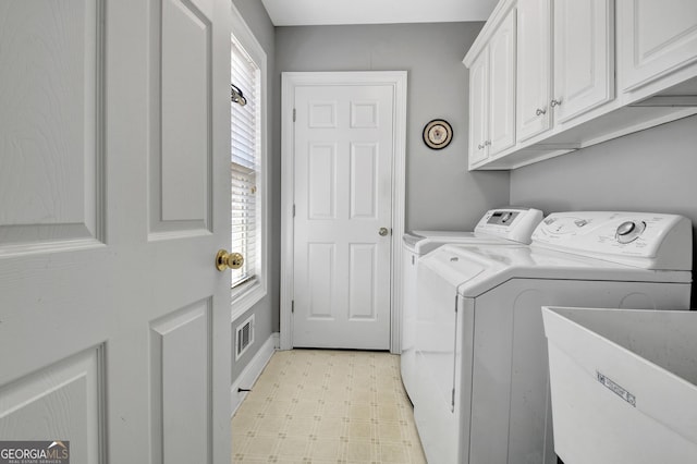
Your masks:
<path fill-rule="evenodd" d="M 555 464 L 541 306 L 687 309 L 692 256 L 687 219 L 604 211 L 550 215 L 530 246 L 424 256 L 412 401 L 428 462 Z"/>

